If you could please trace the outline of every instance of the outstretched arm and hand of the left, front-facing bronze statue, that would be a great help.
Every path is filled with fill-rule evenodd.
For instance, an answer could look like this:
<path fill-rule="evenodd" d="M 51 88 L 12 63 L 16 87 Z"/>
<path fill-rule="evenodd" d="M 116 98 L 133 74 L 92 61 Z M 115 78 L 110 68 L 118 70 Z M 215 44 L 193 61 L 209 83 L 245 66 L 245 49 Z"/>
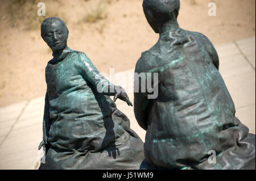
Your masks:
<path fill-rule="evenodd" d="M 101 75 L 86 54 L 79 52 L 79 56 L 82 60 L 82 74 L 94 87 L 96 87 L 98 92 L 101 92 L 104 95 L 114 96 L 114 101 L 119 98 L 125 101 L 128 106 L 133 106 L 128 95 L 121 86 L 113 85 L 113 83 L 110 83 L 108 79 Z"/>

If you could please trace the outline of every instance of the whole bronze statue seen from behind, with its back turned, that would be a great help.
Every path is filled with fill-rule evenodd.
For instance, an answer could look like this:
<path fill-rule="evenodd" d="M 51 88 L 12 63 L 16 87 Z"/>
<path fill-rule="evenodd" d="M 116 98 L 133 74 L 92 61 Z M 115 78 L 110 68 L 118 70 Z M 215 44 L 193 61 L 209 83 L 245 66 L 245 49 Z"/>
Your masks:
<path fill-rule="evenodd" d="M 159 78 L 156 99 L 134 92 L 135 117 L 147 131 L 146 161 L 159 169 L 255 169 L 255 135 L 235 116 L 217 52 L 203 34 L 179 27 L 179 8 L 179 0 L 143 1 L 147 22 L 160 34 L 135 68 Z M 216 163 L 208 160 L 211 150 Z"/>

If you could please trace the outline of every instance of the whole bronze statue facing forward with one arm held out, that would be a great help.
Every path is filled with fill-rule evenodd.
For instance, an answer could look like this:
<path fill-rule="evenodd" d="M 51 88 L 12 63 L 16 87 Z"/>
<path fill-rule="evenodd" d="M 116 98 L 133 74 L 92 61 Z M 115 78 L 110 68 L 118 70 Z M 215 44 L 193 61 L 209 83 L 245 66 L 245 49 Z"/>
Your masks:
<path fill-rule="evenodd" d="M 61 19 L 45 19 L 41 33 L 53 59 L 46 67 L 39 146 L 46 157 L 39 169 L 139 169 L 143 142 L 109 97 L 133 106 L 125 90 L 105 79 L 85 53 L 67 46 L 68 28 Z"/>

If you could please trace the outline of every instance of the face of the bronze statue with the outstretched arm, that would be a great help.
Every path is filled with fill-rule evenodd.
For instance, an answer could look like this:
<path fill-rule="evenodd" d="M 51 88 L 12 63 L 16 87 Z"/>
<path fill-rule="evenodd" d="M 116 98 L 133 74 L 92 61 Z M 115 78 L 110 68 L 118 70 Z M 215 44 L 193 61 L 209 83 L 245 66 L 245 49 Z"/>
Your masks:
<path fill-rule="evenodd" d="M 67 32 L 63 24 L 57 20 L 47 23 L 46 27 L 42 30 L 42 37 L 53 52 L 63 50 L 67 46 Z"/>

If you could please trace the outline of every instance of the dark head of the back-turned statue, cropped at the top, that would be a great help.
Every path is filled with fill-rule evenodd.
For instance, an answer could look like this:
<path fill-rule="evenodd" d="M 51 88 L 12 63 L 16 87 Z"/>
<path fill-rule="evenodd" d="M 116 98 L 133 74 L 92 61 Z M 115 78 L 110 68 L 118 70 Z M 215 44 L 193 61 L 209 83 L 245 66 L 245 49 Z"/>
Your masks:
<path fill-rule="evenodd" d="M 177 23 L 179 9 L 179 0 L 143 0 L 147 22 L 156 33 L 160 33 L 167 22 Z"/>

